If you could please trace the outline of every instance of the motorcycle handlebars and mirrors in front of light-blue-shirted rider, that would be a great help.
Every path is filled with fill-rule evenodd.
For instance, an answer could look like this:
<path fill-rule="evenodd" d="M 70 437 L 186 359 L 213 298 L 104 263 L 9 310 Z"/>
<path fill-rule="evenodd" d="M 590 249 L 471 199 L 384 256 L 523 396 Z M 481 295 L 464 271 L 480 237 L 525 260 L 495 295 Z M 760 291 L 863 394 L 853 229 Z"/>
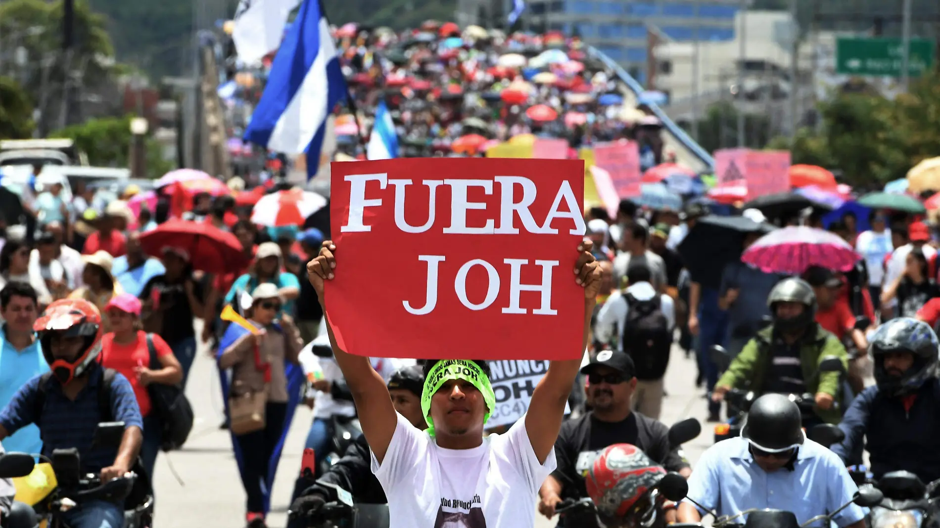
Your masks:
<path fill-rule="evenodd" d="M 821 520 L 823 521 L 823 526 L 828 526 L 829 522 L 838 515 L 840 511 L 849 507 L 849 505 L 854 504 L 862 507 L 871 507 L 879 504 L 883 498 L 881 491 L 866 486 L 855 491 L 852 500 L 839 506 L 836 511 L 825 515 L 817 515 L 805 521 L 803 524 L 800 524 L 799 521 L 796 520 L 796 515 L 791 511 L 750 508 L 734 515 L 719 517 L 716 512 L 709 508 L 699 505 L 691 499 L 686 498 L 686 500 L 697 505 L 700 510 L 708 512 L 714 517 L 715 520 L 712 523 L 713 528 L 807 528 Z M 747 516 L 746 520 L 739 520 L 744 516 Z M 702 525 L 697 522 L 677 522 L 670 525 L 670 528 L 702 528 Z"/>

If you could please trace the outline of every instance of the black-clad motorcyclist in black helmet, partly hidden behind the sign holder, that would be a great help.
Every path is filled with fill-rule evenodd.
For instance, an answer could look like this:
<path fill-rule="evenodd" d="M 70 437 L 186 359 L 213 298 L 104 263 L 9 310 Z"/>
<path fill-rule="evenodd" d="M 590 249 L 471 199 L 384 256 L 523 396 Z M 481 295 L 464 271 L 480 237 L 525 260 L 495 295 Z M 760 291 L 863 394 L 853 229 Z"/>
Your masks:
<path fill-rule="evenodd" d="M 424 389 L 424 373 L 420 365 L 410 365 L 396 370 L 388 380 L 388 393 L 392 396 L 395 411 L 419 429 L 428 427 L 421 412 L 421 392 Z M 350 444 L 343 458 L 323 474 L 317 483 L 304 490 L 290 505 L 290 511 L 298 515 L 290 521 L 291 527 L 305 526 L 306 516 L 315 513 L 331 500 L 336 492 L 323 483 L 333 484 L 352 494 L 356 503 L 385 504 L 385 492 L 379 480 L 372 474 L 366 435 Z"/>

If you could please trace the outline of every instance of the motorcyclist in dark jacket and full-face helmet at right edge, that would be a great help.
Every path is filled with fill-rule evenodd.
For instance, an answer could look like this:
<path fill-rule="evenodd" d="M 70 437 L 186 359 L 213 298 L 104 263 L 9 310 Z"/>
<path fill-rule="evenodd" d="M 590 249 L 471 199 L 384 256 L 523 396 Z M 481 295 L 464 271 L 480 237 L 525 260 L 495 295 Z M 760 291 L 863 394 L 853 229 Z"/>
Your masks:
<path fill-rule="evenodd" d="M 924 482 L 940 478 L 940 380 L 937 336 L 913 318 L 892 319 L 871 336 L 874 386 L 855 396 L 839 427 L 845 440 L 832 450 L 859 463 L 862 442 L 876 478 L 909 471 Z"/>

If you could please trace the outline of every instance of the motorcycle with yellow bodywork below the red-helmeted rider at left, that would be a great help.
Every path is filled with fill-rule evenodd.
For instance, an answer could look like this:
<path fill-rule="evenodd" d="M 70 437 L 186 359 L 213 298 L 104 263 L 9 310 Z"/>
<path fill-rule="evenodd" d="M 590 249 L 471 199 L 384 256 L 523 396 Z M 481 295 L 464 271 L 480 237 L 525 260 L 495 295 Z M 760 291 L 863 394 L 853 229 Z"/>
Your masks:
<path fill-rule="evenodd" d="M 95 429 L 93 446 L 118 445 L 123 422 L 108 422 Z M 41 460 L 36 463 L 36 458 Z M 153 519 L 153 495 L 149 484 L 134 472 L 102 482 L 99 474 L 81 474 L 78 450 L 55 449 L 51 458 L 27 453 L 0 456 L 0 478 L 12 478 L 14 500 L 32 506 L 39 528 L 68 528 L 61 518 L 89 501 L 124 503 L 124 528 L 147 528 Z"/>

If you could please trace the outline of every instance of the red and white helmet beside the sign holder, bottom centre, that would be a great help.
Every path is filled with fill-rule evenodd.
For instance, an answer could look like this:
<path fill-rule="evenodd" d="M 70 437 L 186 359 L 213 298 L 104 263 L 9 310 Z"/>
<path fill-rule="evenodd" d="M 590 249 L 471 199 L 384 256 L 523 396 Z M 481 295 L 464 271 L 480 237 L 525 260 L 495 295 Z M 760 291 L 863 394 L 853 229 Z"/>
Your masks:
<path fill-rule="evenodd" d="M 615 443 L 594 458 L 585 484 L 598 517 L 607 526 L 619 526 L 664 474 L 666 470 L 635 445 Z"/>

